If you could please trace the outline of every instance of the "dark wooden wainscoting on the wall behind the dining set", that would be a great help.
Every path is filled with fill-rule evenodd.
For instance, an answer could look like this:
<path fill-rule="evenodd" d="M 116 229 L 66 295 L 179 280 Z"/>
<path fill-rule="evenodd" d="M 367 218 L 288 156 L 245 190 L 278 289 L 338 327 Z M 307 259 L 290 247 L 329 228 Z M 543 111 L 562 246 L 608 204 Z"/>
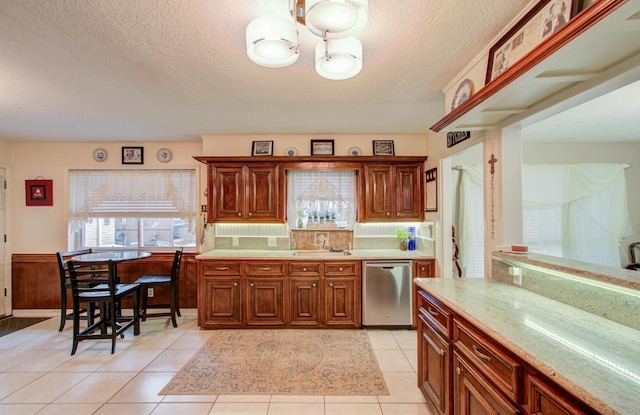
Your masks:
<path fill-rule="evenodd" d="M 197 308 L 198 306 L 198 266 L 197 254 L 185 252 L 180 267 L 180 307 Z M 144 274 L 170 274 L 173 252 L 153 252 L 146 259 L 118 264 L 118 274 L 123 283 L 135 281 Z M 11 289 L 13 309 L 57 309 L 60 307 L 60 283 L 58 263 L 53 254 L 13 254 L 11 258 Z M 157 288 L 153 304 L 165 302 L 168 289 Z M 71 298 L 67 300 L 71 306 Z M 130 307 L 126 302 L 125 307 Z"/>

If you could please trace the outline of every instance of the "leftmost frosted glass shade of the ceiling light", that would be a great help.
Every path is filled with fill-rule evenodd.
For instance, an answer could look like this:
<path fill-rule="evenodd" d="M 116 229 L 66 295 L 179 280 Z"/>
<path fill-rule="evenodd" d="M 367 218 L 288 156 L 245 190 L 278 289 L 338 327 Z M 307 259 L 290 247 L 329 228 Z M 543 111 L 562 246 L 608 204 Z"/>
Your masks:
<path fill-rule="evenodd" d="M 279 16 L 264 16 L 247 26 L 249 59 L 268 68 L 282 68 L 296 62 L 298 30 L 293 21 Z"/>

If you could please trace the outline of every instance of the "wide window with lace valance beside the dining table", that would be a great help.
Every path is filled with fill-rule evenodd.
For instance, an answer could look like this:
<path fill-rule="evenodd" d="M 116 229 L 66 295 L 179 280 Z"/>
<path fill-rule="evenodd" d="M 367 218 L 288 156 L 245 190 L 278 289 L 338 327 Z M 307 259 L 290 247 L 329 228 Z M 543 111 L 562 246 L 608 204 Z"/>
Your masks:
<path fill-rule="evenodd" d="M 70 170 L 70 246 L 195 247 L 195 195 L 195 170 Z"/>

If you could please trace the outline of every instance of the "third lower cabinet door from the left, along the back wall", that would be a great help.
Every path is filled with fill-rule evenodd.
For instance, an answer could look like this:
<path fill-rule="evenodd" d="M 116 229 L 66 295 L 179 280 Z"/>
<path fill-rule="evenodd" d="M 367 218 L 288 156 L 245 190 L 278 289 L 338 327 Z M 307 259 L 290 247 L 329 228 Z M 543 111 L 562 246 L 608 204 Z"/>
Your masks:
<path fill-rule="evenodd" d="M 320 324 L 320 287 L 318 278 L 291 278 L 292 326 L 317 326 Z"/>

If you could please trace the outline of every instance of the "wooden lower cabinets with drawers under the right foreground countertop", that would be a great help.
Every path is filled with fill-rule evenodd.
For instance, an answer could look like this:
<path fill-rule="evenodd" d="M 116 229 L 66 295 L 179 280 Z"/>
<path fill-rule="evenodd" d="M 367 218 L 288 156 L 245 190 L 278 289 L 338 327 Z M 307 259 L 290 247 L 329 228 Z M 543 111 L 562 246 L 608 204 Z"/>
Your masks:
<path fill-rule="evenodd" d="M 434 413 L 598 414 L 436 296 L 420 287 L 416 296 L 418 387 Z"/>

